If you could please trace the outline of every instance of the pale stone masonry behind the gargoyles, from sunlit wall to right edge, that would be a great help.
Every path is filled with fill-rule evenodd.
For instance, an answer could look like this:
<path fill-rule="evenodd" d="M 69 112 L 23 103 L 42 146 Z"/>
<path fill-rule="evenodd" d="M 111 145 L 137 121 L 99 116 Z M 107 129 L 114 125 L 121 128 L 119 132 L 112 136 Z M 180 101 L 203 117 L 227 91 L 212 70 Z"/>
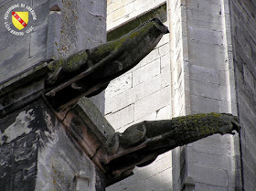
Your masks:
<path fill-rule="evenodd" d="M 229 112 L 240 116 L 241 137 L 214 135 L 177 148 L 109 190 L 253 190 L 255 3 L 110 0 L 109 34 L 161 5 L 166 5 L 170 36 L 112 81 L 105 94 L 106 118 L 122 132 L 133 122 Z"/>

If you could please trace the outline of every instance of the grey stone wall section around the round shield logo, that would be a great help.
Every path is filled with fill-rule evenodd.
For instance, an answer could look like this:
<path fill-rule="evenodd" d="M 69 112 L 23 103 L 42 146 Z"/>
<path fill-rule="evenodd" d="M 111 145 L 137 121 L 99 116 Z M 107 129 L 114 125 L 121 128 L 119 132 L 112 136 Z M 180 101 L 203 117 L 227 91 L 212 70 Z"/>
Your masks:
<path fill-rule="evenodd" d="M 21 3 L 20 1 L 4 1 L 1 3 L 1 16 L 12 5 Z M 37 25 L 34 32 L 26 34 L 23 37 L 11 34 L 5 28 L 5 22 L 1 22 L 0 32 L 0 81 L 10 80 L 22 71 L 33 67 L 41 59 L 46 58 L 47 54 L 47 37 L 48 37 L 48 13 L 49 7 L 46 1 L 25 0 L 22 2 L 34 9 L 37 15 Z M 48 11 L 46 11 L 48 10 Z M 32 20 L 32 18 L 30 18 Z M 1 17 L 4 21 L 4 17 Z M 29 21 L 29 20 L 28 20 Z M 8 22 L 11 23 L 11 14 Z M 33 22 L 33 21 L 31 21 Z M 11 24 L 12 25 L 12 24 Z"/>

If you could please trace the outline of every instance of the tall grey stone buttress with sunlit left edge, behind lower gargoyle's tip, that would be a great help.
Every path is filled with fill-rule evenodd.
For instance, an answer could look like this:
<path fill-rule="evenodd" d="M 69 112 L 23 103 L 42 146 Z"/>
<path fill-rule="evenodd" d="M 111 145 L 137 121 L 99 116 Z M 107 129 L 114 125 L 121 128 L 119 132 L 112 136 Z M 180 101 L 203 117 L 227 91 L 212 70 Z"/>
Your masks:
<path fill-rule="evenodd" d="M 174 115 L 237 115 L 229 2 L 169 1 Z M 181 104 L 179 104 L 181 103 Z M 214 135 L 173 152 L 174 190 L 234 190 L 239 143 Z"/>

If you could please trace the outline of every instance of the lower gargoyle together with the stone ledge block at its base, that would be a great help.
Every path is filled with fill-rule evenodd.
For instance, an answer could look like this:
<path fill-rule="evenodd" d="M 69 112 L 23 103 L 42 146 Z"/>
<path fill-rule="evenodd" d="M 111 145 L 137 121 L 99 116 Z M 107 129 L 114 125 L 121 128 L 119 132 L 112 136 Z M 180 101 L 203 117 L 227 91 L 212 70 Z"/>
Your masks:
<path fill-rule="evenodd" d="M 123 133 L 114 133 L 111 124 L 89 99 L 85 99 L 82 106 L 64 113 L 59 112 L 59 119 L 91 161 L 106 175 L 108 185 L 133 175 L 135 166 L 151 164 L 159 154 L 177 146 L 215 133 L 240 131 L 238 118 L 226 113 L 139 122 Z"/>

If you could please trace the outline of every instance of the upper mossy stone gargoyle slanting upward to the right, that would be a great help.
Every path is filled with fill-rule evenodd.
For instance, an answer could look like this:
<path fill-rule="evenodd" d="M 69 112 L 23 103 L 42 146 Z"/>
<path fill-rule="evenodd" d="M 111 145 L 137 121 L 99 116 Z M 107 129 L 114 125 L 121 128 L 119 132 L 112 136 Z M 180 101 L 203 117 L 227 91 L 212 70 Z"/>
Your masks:
<path fill-rule="evenodd" d="M 48 101 L 61 110 L 82 96 L 99 94 L 111 80 L 136 66 L 166 33 L 167 27 L 154 18 L 117 40 L 52 61 L 46 81 Z"/>

